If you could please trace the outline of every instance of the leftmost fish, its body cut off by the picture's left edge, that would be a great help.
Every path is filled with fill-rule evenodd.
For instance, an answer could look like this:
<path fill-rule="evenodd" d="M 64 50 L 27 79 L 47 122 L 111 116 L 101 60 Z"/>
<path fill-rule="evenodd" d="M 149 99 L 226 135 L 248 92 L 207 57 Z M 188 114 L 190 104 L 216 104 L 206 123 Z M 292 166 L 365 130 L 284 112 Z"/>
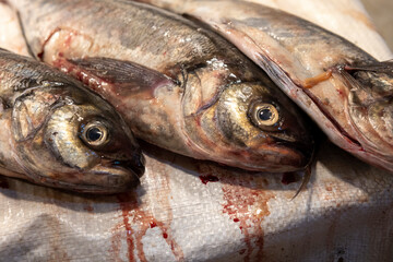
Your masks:
<path fill-rule="evenodd" d="M 144 157 L 112 106 L 73 78 L 0 49 L 0 174 L 86 193 L 129 191 Z"/>

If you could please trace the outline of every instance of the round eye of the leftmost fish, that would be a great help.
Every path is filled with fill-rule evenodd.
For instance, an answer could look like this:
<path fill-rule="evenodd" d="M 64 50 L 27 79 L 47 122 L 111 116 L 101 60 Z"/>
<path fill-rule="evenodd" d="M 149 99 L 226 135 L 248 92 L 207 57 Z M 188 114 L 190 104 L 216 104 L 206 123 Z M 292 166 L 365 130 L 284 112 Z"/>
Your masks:
<path fill-rule="evenodd" d="M 88 145 L 103 145 L 108 142 L 108 129 L 98 121 L 90 122 L 83 127 L 82 139 Z"/>

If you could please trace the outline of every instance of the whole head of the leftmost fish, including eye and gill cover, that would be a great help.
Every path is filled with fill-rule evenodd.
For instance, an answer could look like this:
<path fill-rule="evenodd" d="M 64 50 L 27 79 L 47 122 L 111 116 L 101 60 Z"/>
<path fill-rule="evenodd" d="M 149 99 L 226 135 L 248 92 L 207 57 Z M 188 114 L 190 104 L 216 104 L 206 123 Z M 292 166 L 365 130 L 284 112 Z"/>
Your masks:
<path fill-rule="evenodd" d="M 19 96 L 12 112 L 26 175 L 82 192 L 115 193 L 139 184 L 144 158 L 115 109 L 90 91 L 44 85 Z"/>

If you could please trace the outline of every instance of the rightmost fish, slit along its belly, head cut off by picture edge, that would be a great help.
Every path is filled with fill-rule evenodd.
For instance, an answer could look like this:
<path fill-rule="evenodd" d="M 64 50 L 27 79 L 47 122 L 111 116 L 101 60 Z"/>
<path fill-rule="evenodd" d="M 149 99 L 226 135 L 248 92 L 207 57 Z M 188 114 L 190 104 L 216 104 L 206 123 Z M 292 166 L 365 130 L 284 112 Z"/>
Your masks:
<path fill-rule="evenodd" d="M 306 20 L 235 0 L 143 0 L 203 21 L 258 63 L 327 134 L 393 171 L 393 63 Z"/>

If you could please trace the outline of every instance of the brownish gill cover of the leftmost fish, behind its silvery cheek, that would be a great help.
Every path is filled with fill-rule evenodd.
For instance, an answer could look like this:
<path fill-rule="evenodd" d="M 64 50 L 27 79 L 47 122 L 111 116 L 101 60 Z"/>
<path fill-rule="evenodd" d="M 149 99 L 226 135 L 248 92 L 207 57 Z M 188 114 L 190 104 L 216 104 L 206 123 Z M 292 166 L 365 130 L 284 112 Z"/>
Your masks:
<path fill-rule="evenodd" d="M 45 126 L 52 112 L 71 103 L 71 98 L 64 96 L 64 92 L 63 87 L 37 86 L 24 92 L 14 103 L 12 130 L 17 160 L 26 175 L 35 181 L 50 183 L 48 178 L 51 175 L 60 170 L 64 171 L 64 166 L 59 165 L 56 153 L 45 140 Z M 50 142 L 52 141 L 49 140 Z M 46 177 L 38 174 L 45 174 Z"/>

